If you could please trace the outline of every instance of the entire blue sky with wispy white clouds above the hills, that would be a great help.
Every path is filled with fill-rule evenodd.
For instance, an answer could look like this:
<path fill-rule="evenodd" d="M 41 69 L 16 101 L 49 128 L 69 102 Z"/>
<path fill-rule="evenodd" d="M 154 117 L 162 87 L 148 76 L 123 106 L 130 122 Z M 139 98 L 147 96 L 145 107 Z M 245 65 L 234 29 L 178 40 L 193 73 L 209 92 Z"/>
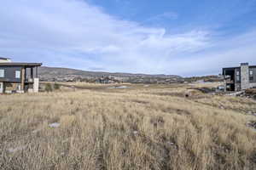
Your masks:
<path fill-rule="evenodd" d="M 256 65 L 256 0 L 3 0 L 0 56 L 84 71 Z"/>

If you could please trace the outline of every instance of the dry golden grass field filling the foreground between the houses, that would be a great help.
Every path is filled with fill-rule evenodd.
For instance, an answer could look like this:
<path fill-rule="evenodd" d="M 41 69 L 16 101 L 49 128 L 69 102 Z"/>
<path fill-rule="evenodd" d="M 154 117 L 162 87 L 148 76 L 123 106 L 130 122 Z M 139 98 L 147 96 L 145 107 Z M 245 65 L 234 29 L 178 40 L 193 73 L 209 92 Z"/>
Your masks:
<path fill-rule="evenodd" d="M 1 95 L 0 169 L 256 169 L 252 99 L 129 87 Z"/>

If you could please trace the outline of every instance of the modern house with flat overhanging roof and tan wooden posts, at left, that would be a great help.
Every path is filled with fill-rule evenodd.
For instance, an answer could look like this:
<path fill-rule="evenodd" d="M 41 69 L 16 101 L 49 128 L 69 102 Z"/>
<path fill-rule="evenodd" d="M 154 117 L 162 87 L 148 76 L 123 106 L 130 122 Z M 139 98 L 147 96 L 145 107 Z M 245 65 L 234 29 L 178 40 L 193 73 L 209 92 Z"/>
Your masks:
<path fill-rule="evenodd" d="M 17 63 L 0 58 L 0 94 L 38 93 L 38 66 L 42 63 Z"/>

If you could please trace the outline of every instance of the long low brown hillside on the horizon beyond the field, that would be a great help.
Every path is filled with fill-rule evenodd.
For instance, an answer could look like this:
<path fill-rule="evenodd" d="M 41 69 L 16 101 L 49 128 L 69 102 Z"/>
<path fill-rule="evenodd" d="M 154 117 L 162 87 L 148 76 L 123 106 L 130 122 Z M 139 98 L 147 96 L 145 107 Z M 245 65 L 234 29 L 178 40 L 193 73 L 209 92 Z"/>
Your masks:
<path fill-rule="evenodd" d="M 148 74 L 132 74 L 120 72 L 98 72 L 98 71 L 81 71 L 69 68 L 46 67 L 38 68 L 38 75 L 41 81 L 47 82 L 96 82 L 102 79 L 119 82 L 183 82 L 183 77 L 175 75 L 148 75 Z"/>

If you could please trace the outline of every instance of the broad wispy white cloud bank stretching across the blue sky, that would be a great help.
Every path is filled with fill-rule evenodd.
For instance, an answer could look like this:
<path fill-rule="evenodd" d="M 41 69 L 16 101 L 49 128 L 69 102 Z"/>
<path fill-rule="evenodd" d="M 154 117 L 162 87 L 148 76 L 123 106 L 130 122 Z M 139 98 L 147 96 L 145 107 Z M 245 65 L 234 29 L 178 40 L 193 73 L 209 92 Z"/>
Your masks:
<path fill-rule="evenodd" d="M 212 52 L 220 45 L 212 40 L 211 31 L 166 34 L 164 28 L 118 20 L 82 0 L 9 0 L 0 6 L 0 23 L 0 55 L 44 65 L 192 75 L 216 72 L 216 61 L 238 54 L 227 51 L 236 40 L 223 42 L 220 54 Z M 247 54 L 250 49 L 240 51 Z"/>

